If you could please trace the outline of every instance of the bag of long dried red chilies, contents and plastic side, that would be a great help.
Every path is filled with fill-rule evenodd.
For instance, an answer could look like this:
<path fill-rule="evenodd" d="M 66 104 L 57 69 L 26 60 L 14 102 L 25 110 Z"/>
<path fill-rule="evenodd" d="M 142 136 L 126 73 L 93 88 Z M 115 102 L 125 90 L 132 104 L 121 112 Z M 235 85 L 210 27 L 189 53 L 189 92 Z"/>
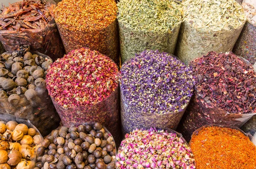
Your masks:
<path fill-rule="evenodd" d="M 17 3 L 22 4 L 23 1 Z M 25 3 L 31 4 L 32 0 L 27 0 Z M 0 41 L 3 43 L 6 51 L 17 50 L 21 45 L 30 45 L 31 50 L 46 54 L 50 56 L 53 61 L 61 58 L 64 55 L 65 51 L 61 42 L 61 37 L 58 33 L 55 20 L 52 17 L 52 10 L 54 8 L 55 2 L 52 0 L 46 0 L 46 4 L 47 5 L 45 7 L 44 5 L 41 5 L 43 7 L 35 7 L 35 4 L 29 5 L 29 7 L 26 9 L 28 11 L 35 11 L 34 14 L 31 12 L 31 16 L 24 17 L 24 14 L 18 13 L 17 16 L 12 16 L 14 20 L 15 17 L 17 17 L 16 19 L 19 19 L 18 22 L 15 22 L 17 25 L 6 25 L 5 27 L 8 28 L 8 30 L 3 30 L 2 26 L 2 30 L 0 30 Z M 36 11 L 34 7 L 35 9 L 40 10 L 40 12 L 43 14 L 43 17 L 49 16 L 46 18 L 47 23 L 44 23 L 45 19 L 42 19 L 43 17 L 40 15 L 41 13 L 38 14 L 38 11 Z M 43 8 L 47 8 L 49 12 L 47 10 L 42 12 L 41 10 L 43 10 Z M 25 11 L 25 9 L 20 10 Z M 4 11 L 8 10 L 5 9 Z M 10 15 L 10 13 L 7 13 L 4 16 L 8 15 Z"/>

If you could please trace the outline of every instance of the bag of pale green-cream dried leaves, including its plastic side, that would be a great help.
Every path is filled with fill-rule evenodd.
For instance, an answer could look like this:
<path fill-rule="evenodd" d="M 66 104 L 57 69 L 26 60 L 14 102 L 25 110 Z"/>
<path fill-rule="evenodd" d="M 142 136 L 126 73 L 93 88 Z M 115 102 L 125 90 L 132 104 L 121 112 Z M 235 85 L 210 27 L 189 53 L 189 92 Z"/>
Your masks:
<path fill-rule="evenodd" d="M 175 55 L 189 63 L 209 51 L 232 50 L 246 21 L 236 0 L 183 0 Z"/>

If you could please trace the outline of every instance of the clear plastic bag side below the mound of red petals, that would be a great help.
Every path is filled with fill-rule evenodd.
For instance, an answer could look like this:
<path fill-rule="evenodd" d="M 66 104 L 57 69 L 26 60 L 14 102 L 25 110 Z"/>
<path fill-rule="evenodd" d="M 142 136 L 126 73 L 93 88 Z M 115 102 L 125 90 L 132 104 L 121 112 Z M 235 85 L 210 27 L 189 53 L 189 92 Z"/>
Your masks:
<path fill-rule="evenodd" d="M 108 128 L 117 144 L 121 141 L 119 86 L 107 99 L 87 107 L 69 107 L 66 109 L 58 104 L 54 98 L 52 98 L 52 102 L 64 126 L 70 127 L 73 124 L 96 121 Z"/>

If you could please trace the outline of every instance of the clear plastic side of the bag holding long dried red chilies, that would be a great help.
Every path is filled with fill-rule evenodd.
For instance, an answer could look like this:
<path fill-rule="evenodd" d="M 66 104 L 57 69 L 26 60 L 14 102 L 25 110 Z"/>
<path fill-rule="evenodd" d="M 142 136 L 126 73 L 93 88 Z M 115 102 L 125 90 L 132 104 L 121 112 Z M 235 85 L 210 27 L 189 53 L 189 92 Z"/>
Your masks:
<path fill-rule="evenodd" d="M 46 0 L 56 4 L 52 0 Z M 54 18 L 44 28 L 25 31 L 0 30 L 0 41 L 6 51 L 15 51 L 20 45 L 29 45 L 32 51 L 38 51 L 51 57 L 53 61 L 64 56 L 64 46 Z"/>

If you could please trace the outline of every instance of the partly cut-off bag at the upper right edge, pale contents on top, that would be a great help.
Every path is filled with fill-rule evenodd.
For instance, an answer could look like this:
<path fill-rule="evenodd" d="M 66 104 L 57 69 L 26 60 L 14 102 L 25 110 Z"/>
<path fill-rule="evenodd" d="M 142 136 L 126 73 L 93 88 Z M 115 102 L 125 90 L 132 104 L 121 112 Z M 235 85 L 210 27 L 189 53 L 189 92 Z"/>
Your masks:
<path fill-rule="evenodd" d="M 245 0 L 242 6 L 247 15 L 247 21 L 236 41 L 233 52 L 254 64 L 256 62 L 256 3 L 253 4 L 250 0 Z"/>

